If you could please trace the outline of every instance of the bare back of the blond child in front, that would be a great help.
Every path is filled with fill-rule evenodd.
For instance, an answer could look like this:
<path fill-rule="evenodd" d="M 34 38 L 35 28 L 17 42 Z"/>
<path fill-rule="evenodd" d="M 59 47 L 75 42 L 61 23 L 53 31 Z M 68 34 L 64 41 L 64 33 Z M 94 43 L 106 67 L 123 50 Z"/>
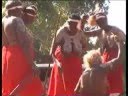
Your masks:
<path fill-rule="evenodd" d="M 88 82 L 82 92 L 83 96 L 104 96 L 108 87 L 104 69 L 97 64 L 91 70 L 85 70 L 83 74 L 86 77 L 84 82 Z"/>

